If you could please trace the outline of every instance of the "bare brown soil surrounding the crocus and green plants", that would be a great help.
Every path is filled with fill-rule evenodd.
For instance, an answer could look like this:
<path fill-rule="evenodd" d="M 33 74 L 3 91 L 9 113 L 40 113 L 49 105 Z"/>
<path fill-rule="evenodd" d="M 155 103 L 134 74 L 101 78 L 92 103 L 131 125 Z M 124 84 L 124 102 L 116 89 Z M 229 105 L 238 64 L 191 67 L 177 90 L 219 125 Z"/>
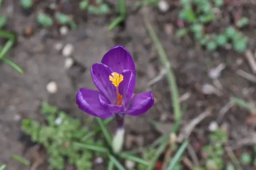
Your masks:
<path fill-rule="evenodd" d="M 112 5 L 114 2 L 108 1 Z M 9 17 L 7 29 L 17 34 L 17 43 L 8 57 L 25 72 L 21 75 L 9 65 L 0 65 L 0 164 L 7 164 L 7 170 L 30 169 L 11 156 L 17 154 L 29 160 L 33 158 L 33 154 L 24 149 L 27 142 L 20 141 L 20 121 L 29 116 L 44 119 L 39 112 L 42 101 L 49 102 L 73 116 L 88 117 L 76 105 L 76 92 L 82 87 L 95 88 L 90 77 L 90 67 L 94 62 L 99 62 L 103 54 L 116 44 L 124 45 L 134 57 L 137 69 L 136 91 L 152 90 L 156 101 L 148 113 L 126 117 L 126 133 L 143 136 L 144 144 L 149 144 L 159 136 L 149 120 L 159 122 L 160 118 L 166 115 L 164 122 L 172 124 L 174 117 L 171 93 L 166 78 L 163 77 L 151 87 L 147 85 L 151 79 L 159 75 L 162 65 L 144 26 L 143 10 L 134 11 L 133 3 L 134 1 L 129 1 L 127 4 L 128 17 L 123 28 L 117 27 L 113 31 L 108 31 L 108 24 L 116 17 L 112 9 L 108 16 L 89 15 L 85 21 L 78 17 L 78 28 L 70 31 L 66 37 L 61 37 L 56 28 L 41 28 L 36 23 L 38 11 L 47 3 L 38 3 L 32 14 L 26 16 L 18 3 L 13 3 L 12 0 L 4 1 L 1 13 Z M 10 11 L 12 7 L 13 11 Z M 252 23 L 244 33 L 250 36 L 249 48 L 254 51 L 255 6 L 244 4 L 243 8 Z M 233 106 L 221 117 L 220 110 L 229 102 L 231 96 L 246 101 L 253 101 L 256 98 L 255 84 L 236 74 L 238 69 L 253 74 L 250 66 L 244 54 L 225 49 L 209 52 L 199 48 L 188 36 L 183 39 L 175 37 L 178 9 L 177 6 L 172 6 L 168 12 L 162 14 L 158 8 L 149 7 L 148 17 L 173 66 L 180 96 L 190 94 L 188 99 L 181 102 L 182 106 L 186 106 L 183 125 L 209 106 L 213 107 L 211 116 L 204 119 L 193 131 L 192 145 L 195 146 L 202 138 L 202 141 L 207 142 L 204 138 L 212 120 L 217 121 L 219 125 L 226 124 L 229 138 L 239 141 L 251 131 L 254 132 L 254 126 L 249 126 L 244 121 L 251 113 Z M 33 30 L 29 37 L 23 34 L 27 26 L 31 26 Z M 68 70 L 64 68 L 65 58 L 54 48 L 57 42 L 72 43 L 75 46 L 72 57 L 76 64 Z M 239 60 L 242 61 L 241 65 L 237 64 Z M 207 65 L 213 68 L 220 63 L 227 65 L 218 79 L 223 87 L 222 95 L 202 94 L 202 85 L 206 82 L 212 84 L 212 80 L 207 76 Z M 58 85 L 56 94 L 49 94 L 46 90 L 47 83 L 52 80 Z M 245 93 L 247 90 L 250 91 Z"/>

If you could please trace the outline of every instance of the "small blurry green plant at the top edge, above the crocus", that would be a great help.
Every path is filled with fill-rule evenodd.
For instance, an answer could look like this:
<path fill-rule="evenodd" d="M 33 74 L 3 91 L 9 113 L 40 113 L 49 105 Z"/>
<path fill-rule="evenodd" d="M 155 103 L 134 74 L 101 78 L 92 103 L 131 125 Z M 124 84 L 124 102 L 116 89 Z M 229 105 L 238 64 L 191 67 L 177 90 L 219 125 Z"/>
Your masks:
<path fill-rule="evenodd" d="M 91 5 L 88 0 L 82 0 L 79 7 L 80 9 L 87 8 L 90 14 L 107 14 L 110 11 L 109 6 L 103 0 L 96 0 L 96 6 Z"/>

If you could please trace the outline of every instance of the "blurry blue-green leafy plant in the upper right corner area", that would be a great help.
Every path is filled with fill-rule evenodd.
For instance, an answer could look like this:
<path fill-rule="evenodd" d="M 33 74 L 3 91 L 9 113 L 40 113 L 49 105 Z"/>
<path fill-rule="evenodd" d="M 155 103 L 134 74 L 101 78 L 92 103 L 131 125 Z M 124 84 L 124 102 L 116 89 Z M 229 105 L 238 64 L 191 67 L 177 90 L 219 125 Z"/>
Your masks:
<path fill-rule="evenodd" d="M 233 48 L 238 52 L 244 52 L 247 48 L 248 37 L 237 31 L 234 27 L 228 27 L 222 33 L 205 34 L 205 24 L 214 20 L 215 14 L 212 8 L 219 8 L 223 5 L 223 0 L 181 0 L 183 9 L 179 13 L 179 18 L 189 24 L 188 28 L 180 28 L 177 36 L 182 37 L 191 31 L 195 40 L 208 50 L 214 51 L 216 48 L 223 47 L 231 41 Z M 195 6 L 195 9 L 192 8 Z M 249 23 L 248 18 L 242 17 L 236 22 L 238 28 L 244 27 Z"/>

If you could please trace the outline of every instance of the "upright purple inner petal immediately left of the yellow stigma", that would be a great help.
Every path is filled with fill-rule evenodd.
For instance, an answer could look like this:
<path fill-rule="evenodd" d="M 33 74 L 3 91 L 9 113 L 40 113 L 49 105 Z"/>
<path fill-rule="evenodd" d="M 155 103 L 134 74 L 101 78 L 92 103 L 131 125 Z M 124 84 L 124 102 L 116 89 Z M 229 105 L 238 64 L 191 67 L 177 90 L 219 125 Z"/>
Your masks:
<path fill-rule="evenodd" d="M 109 80 L 111 73 L 110 68 L 100 62 L 96 62 L 91 68 L 91 76 L 95 86 L 108 99 L 109 103 L 114 104 L 116 101 L 116 87 Z"/>

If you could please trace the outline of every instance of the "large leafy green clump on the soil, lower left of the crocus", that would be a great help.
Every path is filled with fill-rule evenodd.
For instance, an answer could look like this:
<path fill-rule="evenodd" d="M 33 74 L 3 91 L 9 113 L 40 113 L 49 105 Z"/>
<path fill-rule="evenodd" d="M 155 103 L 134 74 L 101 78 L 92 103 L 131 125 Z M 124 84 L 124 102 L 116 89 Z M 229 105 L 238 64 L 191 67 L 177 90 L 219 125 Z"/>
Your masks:
<path fill-rule="evenodd" d="M 82 127 L 78 119 L 71 118 L 56 107 L 43 102 L 41 112 L 47 117 L 47 125 L 41 125 L 30 118 L 22 121 L 21 129 L 31 136 L 33 142 L 41 143 L 46 148 L 49 169 L 63 170 L 65 157 L 78 170 L 90 169 L 93 152 L 77 147 L 75 142 L 102 146 L 102 141 L 94 141 L 93 136 L 84 141 L 88 129 Z"/>

